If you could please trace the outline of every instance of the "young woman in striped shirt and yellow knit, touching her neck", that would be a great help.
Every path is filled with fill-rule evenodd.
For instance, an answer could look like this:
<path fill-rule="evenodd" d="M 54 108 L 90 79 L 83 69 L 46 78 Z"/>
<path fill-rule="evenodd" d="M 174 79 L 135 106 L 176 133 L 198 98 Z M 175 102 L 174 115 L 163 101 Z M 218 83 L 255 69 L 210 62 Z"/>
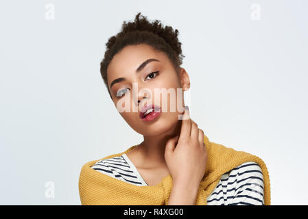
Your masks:
<path fill-rule="evenodd" d="M 270 204 L 264 162 L 209 142 L 191 120 L 179 92 L 190 81 L 177 29 L 138 13 L 106 46 L 101 73 L 110 98 L 144 140 L 83 166 L 83 205 Z"/>

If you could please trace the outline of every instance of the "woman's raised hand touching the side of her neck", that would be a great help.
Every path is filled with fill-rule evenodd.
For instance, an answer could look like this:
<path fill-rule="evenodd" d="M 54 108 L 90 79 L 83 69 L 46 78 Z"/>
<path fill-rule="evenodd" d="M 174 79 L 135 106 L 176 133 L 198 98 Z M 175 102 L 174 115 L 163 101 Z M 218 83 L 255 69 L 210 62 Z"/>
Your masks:
<path fill-rule="evenodd" d="M 206 168 L 204 133 L 189 118 L 189 110 L 183 114 L 180 136 L 168 140 L 165 161 L 174 184 L 198 187 Z"/>

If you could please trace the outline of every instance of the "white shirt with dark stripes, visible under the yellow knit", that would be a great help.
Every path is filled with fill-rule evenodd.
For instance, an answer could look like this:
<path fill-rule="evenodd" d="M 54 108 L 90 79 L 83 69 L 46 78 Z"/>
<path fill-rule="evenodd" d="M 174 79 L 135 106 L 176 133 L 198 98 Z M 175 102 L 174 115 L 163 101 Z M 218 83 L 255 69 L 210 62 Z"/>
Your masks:
<path fill-rule="evenodd" d="M 133 185 L 147 186 L 126 153 L 102 159 L 91 168 Z M 255 162 L 246 162 L 226 172 L 206 201 L 207 205 L 264 205 L 260 166 Z"/>

